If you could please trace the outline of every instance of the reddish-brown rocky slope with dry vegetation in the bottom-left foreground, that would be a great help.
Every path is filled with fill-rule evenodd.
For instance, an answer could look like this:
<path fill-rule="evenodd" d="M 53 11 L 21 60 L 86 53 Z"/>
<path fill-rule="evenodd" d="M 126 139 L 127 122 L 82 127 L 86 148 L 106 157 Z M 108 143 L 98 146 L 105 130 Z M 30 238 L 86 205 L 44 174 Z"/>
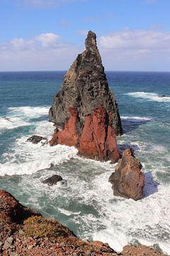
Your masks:
<path fill-rule="evenodd" d="M 116 253 L 103 242 L 80 240 L 57 220 L 46 219 L 0 191 L 0 255 L 6 256 L 161 256 L 146 246 L 127 246 Z M 162 255 L 163 256 L 163 255 Z"/>

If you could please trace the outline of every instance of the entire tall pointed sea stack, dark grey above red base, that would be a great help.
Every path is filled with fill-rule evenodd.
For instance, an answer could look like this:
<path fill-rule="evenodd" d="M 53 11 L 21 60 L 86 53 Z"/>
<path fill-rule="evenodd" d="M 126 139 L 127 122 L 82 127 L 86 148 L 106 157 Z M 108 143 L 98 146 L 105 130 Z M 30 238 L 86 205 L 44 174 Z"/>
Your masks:
<path fill-rule="evenodd" d="M 94 32 L 89 31 L 85 45 L 50 108 L 50 121 L 57 127 L 50 144 L 75 146 L 82 156 L 115 162 L 115 137 L 123 134 L 118 104 L 108 87 Z"/>

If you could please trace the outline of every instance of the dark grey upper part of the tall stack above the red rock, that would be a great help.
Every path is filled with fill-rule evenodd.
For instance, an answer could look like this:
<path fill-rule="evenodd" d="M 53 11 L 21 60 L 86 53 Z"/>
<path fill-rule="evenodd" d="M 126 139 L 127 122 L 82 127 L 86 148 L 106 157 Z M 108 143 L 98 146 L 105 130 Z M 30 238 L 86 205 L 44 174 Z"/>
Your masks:
<path fill-rule="evenodd" d="M 111 127 L 115 134 L 122 134 L 118 105 L 101 62 L 96 46 L 96 34 L 89 31 L 86 38 L 86 50 L 79 54 L 64 77 L 60 92 L 54 98 L 50 108 L 50 120 L 62 128 L 70 117 L 69 107 L 75 107 L 79 113 L 80 132 L 86 115 L 92 114 L 99 105 L 111 113 Z"/>

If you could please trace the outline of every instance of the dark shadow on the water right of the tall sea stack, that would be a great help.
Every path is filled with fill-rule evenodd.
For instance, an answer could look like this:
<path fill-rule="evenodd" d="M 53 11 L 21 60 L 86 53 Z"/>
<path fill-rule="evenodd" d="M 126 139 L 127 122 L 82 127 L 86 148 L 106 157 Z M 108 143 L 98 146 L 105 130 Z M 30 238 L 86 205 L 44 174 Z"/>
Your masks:
<path fill-rule="evenodd" d="M 140 127 L 140 125 L 145 124 L 147 122 L 151 122 L 151 119 L 135 119 L 135 118 L 126 118 L 121 119 L 122 127 L 123 127 L 123 134 L 131 132 L 134 129 Z"/>

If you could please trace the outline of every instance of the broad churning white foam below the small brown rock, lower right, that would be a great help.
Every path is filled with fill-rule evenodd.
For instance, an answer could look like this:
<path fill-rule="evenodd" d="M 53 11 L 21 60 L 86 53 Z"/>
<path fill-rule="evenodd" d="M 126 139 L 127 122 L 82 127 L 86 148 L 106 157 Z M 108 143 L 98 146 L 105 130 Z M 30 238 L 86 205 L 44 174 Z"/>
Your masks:
<path fill-rule="evenodd" d="M 118 252 L 137 239 L 143 245 L 157 243 L 164 252 L 169 253 L 169 240 L 164 239 L 164 233 L 170 232 L 169 186 L 159 185 L 157 193 L 135 202 L 113 196 L 108 185 L 110 174 L 101 174 L 94 181 L 96 190 L 102 195 L 101 223 L 106 228 L 96 230 L 93 239 L 108 242 Z"/>

